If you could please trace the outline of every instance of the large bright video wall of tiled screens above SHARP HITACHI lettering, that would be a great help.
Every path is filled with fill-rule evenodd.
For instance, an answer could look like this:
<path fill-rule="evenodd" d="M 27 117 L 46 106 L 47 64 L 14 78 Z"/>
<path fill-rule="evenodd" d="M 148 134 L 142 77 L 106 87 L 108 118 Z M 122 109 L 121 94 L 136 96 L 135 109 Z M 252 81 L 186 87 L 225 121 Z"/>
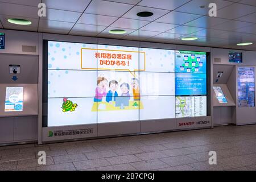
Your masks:
<path fill-rule="evenodd" d="M 48 126 L 207 115 L 205 52 L 48 41 Z"/>

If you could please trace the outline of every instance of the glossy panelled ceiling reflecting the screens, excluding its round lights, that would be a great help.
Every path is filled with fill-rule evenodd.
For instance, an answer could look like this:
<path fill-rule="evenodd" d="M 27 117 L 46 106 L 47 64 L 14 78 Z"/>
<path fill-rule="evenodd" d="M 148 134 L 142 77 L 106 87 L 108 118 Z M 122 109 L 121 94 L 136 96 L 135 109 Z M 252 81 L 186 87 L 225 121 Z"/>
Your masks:
<path fill-rule="evenodd" d="M 46 3 L 46 17 L 38 16 L 40 2 Z M 212 2 L 217 17 L 208 16 Z M 154 15 L 139 17 L 140 11 Z M 9 18 L 32 24 L 11 24 Z M 0 21 L 0 28 L 10 30 L 256 51 L 256 0 L 0 0 Z M 109 34 L 112 29 L 127 32 Z M 199 39 L 181 40 L 186 36 Z M 236 46 L 240 42 L 254 44 Z"/>

